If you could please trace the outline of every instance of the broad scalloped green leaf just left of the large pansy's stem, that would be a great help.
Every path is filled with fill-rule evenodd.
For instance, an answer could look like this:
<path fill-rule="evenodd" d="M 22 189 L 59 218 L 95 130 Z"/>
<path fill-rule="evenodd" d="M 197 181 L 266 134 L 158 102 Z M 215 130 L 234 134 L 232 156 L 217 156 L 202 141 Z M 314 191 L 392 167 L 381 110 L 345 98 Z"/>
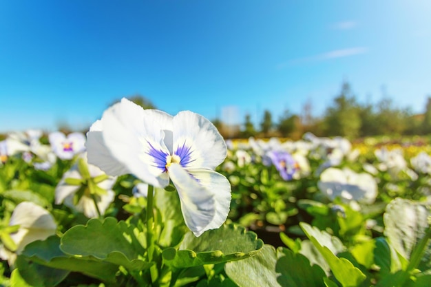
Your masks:
<path fill-rule="evenodd" d="M 61 238 L 61 251 L 75 257 L 92 257 L 96 261 L 125 266 L 129 270 L 143 270 L 151 263 L 142 258 L 144 248 L 132 228 L 114 217 L 103 222 L 92 219 L 86 226 L 76 225 Z"/>

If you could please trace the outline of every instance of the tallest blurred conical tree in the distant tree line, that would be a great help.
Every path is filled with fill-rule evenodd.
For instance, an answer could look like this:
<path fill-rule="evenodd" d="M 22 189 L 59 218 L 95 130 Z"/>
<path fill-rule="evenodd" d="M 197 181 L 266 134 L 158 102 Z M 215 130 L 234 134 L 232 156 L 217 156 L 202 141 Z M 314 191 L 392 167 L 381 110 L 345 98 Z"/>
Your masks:
<path fill-rule="evenodd" d="M 339 96 L 334 99 L 334 105 L 326 109 L 324 116 L 326 136 L 356 138 L 359 136 L 360 128 L 359 107 L 350 90 L 350 85 L 344 82 Z"/>

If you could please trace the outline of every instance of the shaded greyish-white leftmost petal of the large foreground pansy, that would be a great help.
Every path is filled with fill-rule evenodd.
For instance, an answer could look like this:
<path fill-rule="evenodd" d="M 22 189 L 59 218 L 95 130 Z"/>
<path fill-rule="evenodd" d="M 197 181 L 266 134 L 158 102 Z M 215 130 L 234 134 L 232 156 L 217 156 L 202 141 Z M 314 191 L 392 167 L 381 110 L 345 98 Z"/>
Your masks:
<path fill-rule="evenodd" d="M 87 132 L 87 160 L 90 164 L 96 164 L 100 169 L 105 171 L 109 176 L 121 176 L 129 173 L 121 162 L 118 162 L 107 149 L 103 141 L 102 134 L 103 124 L 101 120 L 97 120 Z"/>

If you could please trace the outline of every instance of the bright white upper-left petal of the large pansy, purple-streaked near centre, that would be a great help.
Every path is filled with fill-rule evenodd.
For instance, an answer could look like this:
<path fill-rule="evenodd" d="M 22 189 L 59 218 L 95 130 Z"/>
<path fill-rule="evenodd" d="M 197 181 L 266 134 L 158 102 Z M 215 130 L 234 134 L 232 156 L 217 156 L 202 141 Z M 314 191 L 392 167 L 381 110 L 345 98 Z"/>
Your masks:
<path fill-rule="evenodd" d="M 153 152 L 163 160 L 168 151 L 166 147 L 165 150 L 162 147 L 154 147 L 157 142 L 152 142 L 153 149 L 148 150 L 149 142 L 144 125 L 149 123 L 145 123 L 144 117 L 145 112 L 141 107 L 123 98 L 120 103 L 116 103 L 103 114 L 101 119 L 104 127 L 103 140 L 112 156 L 134 176 L 155 187 L 165 187 L 169 184 L 169 178 L 164 173 L 165 170 L 161 169 L 160 162 L 158 165 L 152 165 L 146 159 L 148 153 Z M 162 134 L 159 133 L 158 136 L 161 138 Z M 154 155 L 150 158 L 154 159 Z M 90 163 L 99 165 L 98 162 Z"/>

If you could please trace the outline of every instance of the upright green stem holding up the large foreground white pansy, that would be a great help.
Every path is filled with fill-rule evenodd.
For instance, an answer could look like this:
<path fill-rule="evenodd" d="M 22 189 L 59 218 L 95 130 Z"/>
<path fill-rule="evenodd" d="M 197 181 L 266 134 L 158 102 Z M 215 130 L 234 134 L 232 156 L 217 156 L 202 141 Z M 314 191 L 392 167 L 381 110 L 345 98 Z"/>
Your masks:
<path fill-rule="evenodd" d="M 153 201 L 154 201 L 154 187 L 152 185 L 148 185 L 148 194 L 147 194 L 147 257 L 148 262 L 153 261 L 154 256 L 154 230 L 155 222 L 154 222 L 154 214 L 153 214 Z M 154 283 L 158 277 L 157 266 L 153 264 L 149 268 L 149 273 L 151 275 L 151 281 Z"/>

